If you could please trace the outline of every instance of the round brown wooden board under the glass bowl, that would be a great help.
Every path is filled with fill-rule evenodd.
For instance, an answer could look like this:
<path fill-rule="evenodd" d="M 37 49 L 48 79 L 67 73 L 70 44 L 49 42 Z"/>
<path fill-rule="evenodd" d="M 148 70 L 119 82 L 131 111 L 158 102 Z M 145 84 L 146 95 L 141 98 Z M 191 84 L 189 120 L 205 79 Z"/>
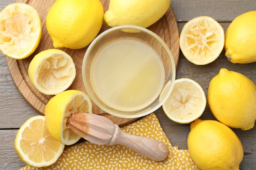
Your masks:
<path fill-rule="evenodd" d="M 109 0 L 100 0 L 104 7 L 104 11 L 108 10 Z M 18 88 L 18 91 L 22 94 L 24 99 L 32 105 L 33 109 L 37 110 L 40 114 L 44 114 L 45 105 L 53 97 L 53 95 L 44 95 L 38 92 L 30 83 L 28 78 L 28 66 L 30 61 L 32 60 L 33 56 L 38 54 L 43 50 L 47 50 L 53 47 L 53 41 L 51 37 L 47 33 L 47 29 L 45 26 L 45 18 L 47 16 L 47 12 L 49 11 L 50 7 L 53 5 L 55 0 L 18 0 L 18 3 L 27 3 L 35 8 L 41 18 L 42 26 L 43 26 L 43 33 L 41 37 L 41 41 L 39 46 L 35 50 L 35 52 L 26 59 L 16 60 L 7 58 L 7 65 L 9 67 L 9 72 L 12 76 L 12 80 L 15 86 Z M 104 22 L 102 28 L 100 29 L 100 33 L 109 29 L 108 25 Z M 175 59 L 175 65 L 177 67 L 179 61 L 179 31 L 177 26 L 177 21 L 175 19 L 175 15 L 173 14 L 173 10 L 171 7 L 166 12 L 166 14 L 154 25 L 148 27 L 151 31 L 158 34 L 169 46 L 171 52 L 173 53 L 173 57 Z M 72 36 L 72 35 L 70 35 Z M 68 48 L 60 48 L 60 50 L 64 50 L 70 56 L 72 56 L 75 67 L 77 70 L 77 75 L 73 84 L 70 86 L 69 89 L 81 90 L 86 93 L 85 87 L 83 86 L 83 80 L 81 75 L 81 65 L 83 61 L 83 56 L 87 47 L 79 49 L 79 50 L 70 50 Z M 93 104 L 93 112 L 95 114 L 101 114 L 112 120 L 115 124 L 119 126 L 124 126 L 125 124 L 129 124 L 133 122 L 137 118 L 128 119 L 128 118 L 119 118 L 116 116 L 112 116 L 103 110 L 99 109 L 95 104 Z"/>

